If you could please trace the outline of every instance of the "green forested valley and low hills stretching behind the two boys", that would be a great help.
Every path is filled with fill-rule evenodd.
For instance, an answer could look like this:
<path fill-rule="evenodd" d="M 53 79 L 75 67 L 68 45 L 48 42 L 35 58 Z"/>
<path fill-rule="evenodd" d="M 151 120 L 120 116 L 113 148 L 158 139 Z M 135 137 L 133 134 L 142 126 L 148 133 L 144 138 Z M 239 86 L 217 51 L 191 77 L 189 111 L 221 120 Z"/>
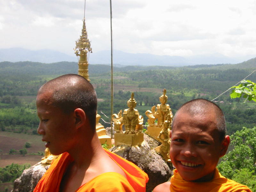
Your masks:
<path fill-rule="evenodd" d="M 126 66 L 114 67 L 114 113 L 127 108 L 131 92 L 140 114 L 147 122 L 145 111 L 159 103 L 163 89 L 167 89 L 168 103 L 173 113 L 186 101 L 195 98 L 212 100 L 242 80 L 256 68 L 256 58 L 233 65 L 197 65 L 186 67 Z M 35 98 L 38 89 L 48 80 L 68 73 L 77 73 L 76 62 L 37 63 L 0 62 L 0 126 L 9 131 L 36 132 Z M 98 112 L 110 114 L 110 66 L 89 65 L 91 83 L 96 88 Z M 256 73 L 249 77 L 256 82 Z M 228 132 L 243 126 L 256 126 L 255 103 L 243 105 L 230 99 L 228 93 L 216 100 L 227 119 Z M 21 110 L 21 108 L 23 108 Z M 24 109 L 26 108 L 26 110 Z M 27 112 L 26 118 L 24 110 Z M 23 112 L 22 112 L 23 111 Z M 107 117 L 100 114 L 105 121 Z M 20 118 L 20 117 L 24 118 Z M 28 121 L 29 119 L 29 121 Z M 103 122 L 101 122 L 104 124 Z M 108 124 L 104 124 L 108 126 Z M 22 131 L 23 132 L 23 131 Z"/>

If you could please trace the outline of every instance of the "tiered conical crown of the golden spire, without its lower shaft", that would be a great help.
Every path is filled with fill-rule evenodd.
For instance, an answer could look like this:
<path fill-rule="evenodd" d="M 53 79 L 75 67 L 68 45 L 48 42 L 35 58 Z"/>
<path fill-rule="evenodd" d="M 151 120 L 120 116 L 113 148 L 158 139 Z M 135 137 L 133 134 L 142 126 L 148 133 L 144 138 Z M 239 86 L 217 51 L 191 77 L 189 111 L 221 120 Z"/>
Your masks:
<path fill-rule="evenodd" d="M 85 19 L 83 20 L 83 29 L 82 29 L 82 35 L 80 36 L 80 39 L 76 41 L 76 48 L 75 50 L 88 50 L 89 52 L 92 53 L 92 48 L 91 48 L 91 42 L 89 41 L 87 37 L 87 31 L 85 27 Z"/>

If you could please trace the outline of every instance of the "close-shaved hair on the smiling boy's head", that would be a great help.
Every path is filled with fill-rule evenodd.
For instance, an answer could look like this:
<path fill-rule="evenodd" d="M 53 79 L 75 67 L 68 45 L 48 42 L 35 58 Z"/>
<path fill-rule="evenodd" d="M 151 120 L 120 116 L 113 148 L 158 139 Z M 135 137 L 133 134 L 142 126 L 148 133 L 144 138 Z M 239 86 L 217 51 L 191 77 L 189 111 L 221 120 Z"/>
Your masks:
<path fill-rule="evenodd" d="M 205 99 L 195 99 L 184 103 L 173 117 L 172 124 L 175 121 L 175 117 L 178 113 L 187 113 L 193 117 L 196 115 L 206 116 L 212 111 L 215 113 L 216 116 L 216 128 L 220 133 L 220 140 L 223 140 L 226 135 L 225 116 L 218 105 Z"/>

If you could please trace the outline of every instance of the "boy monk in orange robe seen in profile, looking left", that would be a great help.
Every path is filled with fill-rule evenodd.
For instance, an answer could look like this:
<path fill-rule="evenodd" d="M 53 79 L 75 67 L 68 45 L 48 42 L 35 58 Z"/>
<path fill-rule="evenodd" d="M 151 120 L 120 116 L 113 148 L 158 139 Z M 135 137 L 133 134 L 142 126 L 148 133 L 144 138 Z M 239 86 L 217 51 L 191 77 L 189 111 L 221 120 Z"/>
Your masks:
<path fill-rule="evenodd" d="M 61 155 L 35 192 L 145 191 L 148 175 L 101 147 L 95 131 L 96 92 L 82 76 L 63 75 L 44 84 L 36 107 L 37 132 L 53 155 Z"/>

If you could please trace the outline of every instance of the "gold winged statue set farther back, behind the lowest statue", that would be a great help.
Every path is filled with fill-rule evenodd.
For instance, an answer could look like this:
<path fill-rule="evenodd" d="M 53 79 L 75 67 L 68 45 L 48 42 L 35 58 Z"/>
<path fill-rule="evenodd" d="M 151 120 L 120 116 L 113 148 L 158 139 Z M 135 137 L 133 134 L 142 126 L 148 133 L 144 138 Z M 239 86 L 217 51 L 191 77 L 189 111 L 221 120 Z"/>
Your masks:
<path fill-rule="evenodd" d="M 162 130 L 163 125 L 165 121 L 169 118 L 170 124 L 169 127 L 171 127 L 172 124 L 172 109 L 170 108 L 170 105 L 166 104 L 168 99 L 168 96 L 166 95 L 166 89 L 164 89 L 163 94 L 161 97 L 159 97 L 159 100 L 161 104 L 157 104 L 156 106 L 153 106 L 150 110 L 147 110 L 145 112 L 146 116 L 148 117 L 148 130 L 146 133 L 151 135 L 152 137 L 158 138 L 159 132 Z M 157 120 L 157 123 L 155 121 Z M 161 141 L 161 140 L 160 140 Z"/>

